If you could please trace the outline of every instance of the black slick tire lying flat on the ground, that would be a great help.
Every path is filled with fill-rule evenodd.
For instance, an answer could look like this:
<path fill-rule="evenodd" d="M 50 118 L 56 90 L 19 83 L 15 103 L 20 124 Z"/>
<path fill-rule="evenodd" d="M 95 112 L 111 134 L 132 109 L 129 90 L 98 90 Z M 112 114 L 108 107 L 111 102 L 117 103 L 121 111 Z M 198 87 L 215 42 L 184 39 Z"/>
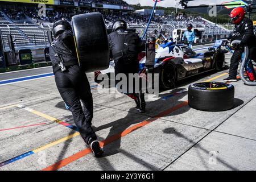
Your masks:
<path fill-rule="evenodd" d="M 234 106 L 234 86 L 223 82 L 201 82 L 188 88 L 188 104 L 203 111 L 225 111 Z"/>

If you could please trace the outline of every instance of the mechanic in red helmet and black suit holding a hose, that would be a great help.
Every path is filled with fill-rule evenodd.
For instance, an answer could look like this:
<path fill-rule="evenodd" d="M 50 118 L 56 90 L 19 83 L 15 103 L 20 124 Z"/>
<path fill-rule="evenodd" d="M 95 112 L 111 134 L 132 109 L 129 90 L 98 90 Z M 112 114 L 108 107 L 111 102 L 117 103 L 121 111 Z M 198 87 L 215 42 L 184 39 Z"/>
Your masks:
<path fill-rule="evenodd" d="M 256 39 L 253 31 L 253 22 L 245 17 L 245 10 L 242 7 L 233 9 L 230 13 L 230 19 L 235 24 L 235 30 L 229 36 L 229 40 L 231 42 L 233 40 L 241 40 L 241 44 L 233 45 L 235 50 L 230 60 L 229 77 L 225 78 L 224 81 L 238 81 L 237 69 L 242 58 L 244 46 L 248 46 L 249 57 L 255 61 Z M 251 60 L 245 65 L 245 69 L 249 80 L 255 81 L 256 75 Z"/>

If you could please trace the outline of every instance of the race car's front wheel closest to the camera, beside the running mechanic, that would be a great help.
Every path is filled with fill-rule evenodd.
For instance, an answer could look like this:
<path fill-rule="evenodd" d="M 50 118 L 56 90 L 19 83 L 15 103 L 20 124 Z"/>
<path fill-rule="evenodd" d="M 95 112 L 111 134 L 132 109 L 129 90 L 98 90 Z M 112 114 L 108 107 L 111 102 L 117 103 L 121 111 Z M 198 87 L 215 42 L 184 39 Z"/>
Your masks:
<path fill-rule="evenodd" d="M 177 68 L 174 63 L 167 61 L 160 69 L 159 86 L 160 89 L 168 90 L 175 88 L 177 82 Z"/>

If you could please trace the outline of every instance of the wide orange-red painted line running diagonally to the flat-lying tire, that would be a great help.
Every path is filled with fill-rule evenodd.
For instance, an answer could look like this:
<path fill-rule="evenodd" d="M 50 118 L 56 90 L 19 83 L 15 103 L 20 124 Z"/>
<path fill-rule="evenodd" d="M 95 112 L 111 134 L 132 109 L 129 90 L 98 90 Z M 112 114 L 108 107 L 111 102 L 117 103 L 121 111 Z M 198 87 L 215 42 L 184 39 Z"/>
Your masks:
<path fill-rule="evenodd" d="M 162 113 L 158 114 L 158 115 L 155 115 L 155 117 L 152 117 L 152 118 L 149 118 L 145 121 L 142 121 L 141 123 L 138 123 L 137 125 L 134 125 L 132 127 L 129 127 L 129 129 L 126 129 L 124 131 L 122 131 L 121 133 L 118 133 L 118 134 L 115 134 L 115 135 L 112 135 L 111 137 L 109 138 L 106 138 L 105 140 L 103 140 L 102 142 L 100 142 L 100 145 L 101 147 L 105 146 L 106 144 L 109 144 L 109 143 L 112 143 L 114 142 L 115 140 L 119 139 L 119 138 L 122 138 L 122 137 L 125 137 L 125 135 L 135 131 L 135 130 L 138 130 L 139 128 L 143 127 L 143 126 L 146 126 L 148 125 L 149 123 L 153 122 L 153 121 L 156 121 L 157 119 L 159 118 L 162 118 L 178 109 L 180 109 L 181 107 L 184 107 L 184 106 L 187 106 L 188 105 L 188 101 L 184 101 L 182 102 L 181 104 L 179 105 L 176 105 L 174 107 L 172 107 L 171 109 L 168 109 L 166 111 L 163 111 Z M 67 164 L 69 163 L 72 163 L 74 162 L 75 160 L 77 159 L 80 159 L 82 158 L 83 156 L 85 155 L 88 155 L 90 154 L 90 152 L 92 152 L 90 150 L 90 148 L 86 148 L 85 150 L 82 150 L 80 152 L 77 152 L 76 154 L 72 155 L 72 156 L 69 156 L 68 158 L 65 158 L 63 160 L 60 160 L 59 162 L 55 163 L 55 164 L 52 164 L 51 166 L 47 167 L 47 168 L 44 168 L 42 169 L 43 171 L 55 171 L 57 169 L 60 169 L 61 167 L 64 167 L 66 166 Z"/>

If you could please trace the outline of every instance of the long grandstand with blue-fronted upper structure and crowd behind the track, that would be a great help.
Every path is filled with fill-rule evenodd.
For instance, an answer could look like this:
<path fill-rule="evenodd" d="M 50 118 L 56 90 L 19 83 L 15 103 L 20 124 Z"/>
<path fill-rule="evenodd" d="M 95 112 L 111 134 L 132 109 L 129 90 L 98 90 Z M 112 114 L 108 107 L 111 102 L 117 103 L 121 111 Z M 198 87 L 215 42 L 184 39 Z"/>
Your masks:
<path fill-rule="evenodd" d="M 44 61 L 44 48 L 49 47 L 47 34 L 52 30 L 53 22 L 61 18 L 71 20 L 72 16 L 77 14 L 100 12 L 104 16 L 106 28 L 111 28 L 115 20 L 124 19 L 129 28 L 135 29 L 139 35 L 143 34 L 149 19 L 148 15 L 135 13 L 130 5 L 120 0 L 59 0 L 54 3 L 56 4 L 47 5 L 46 16 L 39 16 L 39 8 L 35 3 L 0 2 L 3 51 L 10 49 L 7 36 L 11 34 L 16 51 L 30 48 L 32 54 L 34 53 L 32 55 L 34 62 Z M 217 38 L 216 35 L 229 34 L 226 28 L 217 26 L 200 16 L 182 15 L 155 15 L 147 33 L 158 36 L 162 31 L 168 38 L 172 38 L 175 29 L 186 28 L 189 23 L 197 28 L 204 28 L 201 42 L 214 40 L 214 35 Z"/>

